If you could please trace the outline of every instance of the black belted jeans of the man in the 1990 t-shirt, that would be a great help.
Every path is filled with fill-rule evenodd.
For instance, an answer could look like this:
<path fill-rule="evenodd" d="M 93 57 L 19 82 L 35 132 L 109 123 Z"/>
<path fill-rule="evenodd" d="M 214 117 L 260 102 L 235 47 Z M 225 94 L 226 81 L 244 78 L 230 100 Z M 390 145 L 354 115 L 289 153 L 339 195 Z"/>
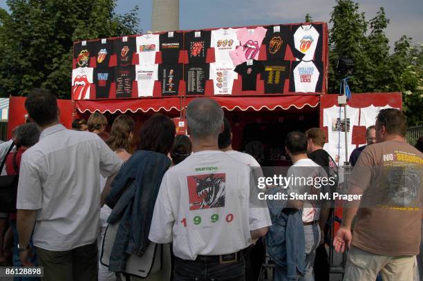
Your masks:
<path fill-rule="evenodd" d="M 240 260 L 227 264 L 218 261 L 182 260 L 175 257 L 174 281 L 245 281 L 245 262 L 242 253 Z"/>

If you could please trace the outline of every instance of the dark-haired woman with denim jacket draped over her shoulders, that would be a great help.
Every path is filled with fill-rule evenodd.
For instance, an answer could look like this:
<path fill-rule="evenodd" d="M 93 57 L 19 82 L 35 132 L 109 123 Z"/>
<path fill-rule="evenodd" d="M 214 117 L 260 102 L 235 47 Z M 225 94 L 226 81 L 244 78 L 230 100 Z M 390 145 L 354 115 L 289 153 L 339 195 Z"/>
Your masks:
<path fill-rule="evenodd" d="M 114 209 L 107 222 L 119 227 L 110 253 L 113 263 L 109 264 L 109 271 L 125 272 L 128 253 L 140 255 L 151 243 L 148 238 L 154 204 L 162 177 L 171 165 L 167 154 L 175 133 L 175 125 L 169 117 L 162 114 L 150 117 L 142 127 L 138 151 L 122 166 L 111 184 L 105 202 Z M 162 270 L 144 280 L 169 280 L 169 245 L 163 245 L 162 250 Z"/>

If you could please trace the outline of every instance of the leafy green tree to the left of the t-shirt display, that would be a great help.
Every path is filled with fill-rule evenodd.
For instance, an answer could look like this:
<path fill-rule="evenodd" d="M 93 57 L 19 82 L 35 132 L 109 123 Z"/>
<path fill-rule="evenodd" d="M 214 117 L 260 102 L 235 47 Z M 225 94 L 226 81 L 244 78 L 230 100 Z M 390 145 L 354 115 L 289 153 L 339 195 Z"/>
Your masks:
<path fill-rule="evenodd" d="M 71 95 L 73 42 L 140 33 L 135 6 L 115 14 L 116 0 L 8 0 L 0 9 L 0 93 L 48 88 Z"/>

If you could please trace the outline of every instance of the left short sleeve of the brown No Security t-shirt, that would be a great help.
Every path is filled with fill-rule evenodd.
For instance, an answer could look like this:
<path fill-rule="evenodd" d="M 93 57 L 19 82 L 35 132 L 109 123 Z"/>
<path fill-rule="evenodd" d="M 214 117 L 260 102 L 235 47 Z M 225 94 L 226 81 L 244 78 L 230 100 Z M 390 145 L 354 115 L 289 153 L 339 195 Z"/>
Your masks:
<path fill-rule="evenodd" d="M 348 182 L 358 186 L 364 191 L 370 186 L 373 168 L 377 168 L 375 167 L 375 162 L 373 161 L 374 157 L 371 152 L 372 148 L 369 146 L 360 153 L 357 163 L 348 178 Z"/>

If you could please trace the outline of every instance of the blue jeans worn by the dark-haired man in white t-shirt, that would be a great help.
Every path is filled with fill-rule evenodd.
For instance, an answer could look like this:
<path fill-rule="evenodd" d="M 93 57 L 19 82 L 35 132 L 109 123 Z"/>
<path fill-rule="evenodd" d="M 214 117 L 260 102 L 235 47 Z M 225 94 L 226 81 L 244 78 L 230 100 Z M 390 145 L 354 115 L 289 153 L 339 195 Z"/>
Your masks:
<path fill-rule="evenodd" d="M 306 240 L 306 274 L 299 278 L 301 281 L 314 281 L 314 258 L 316 258 L 316 249 L 320 242 L 319 224 L 310 224 L 304 226 L 304 238 Z"/>

